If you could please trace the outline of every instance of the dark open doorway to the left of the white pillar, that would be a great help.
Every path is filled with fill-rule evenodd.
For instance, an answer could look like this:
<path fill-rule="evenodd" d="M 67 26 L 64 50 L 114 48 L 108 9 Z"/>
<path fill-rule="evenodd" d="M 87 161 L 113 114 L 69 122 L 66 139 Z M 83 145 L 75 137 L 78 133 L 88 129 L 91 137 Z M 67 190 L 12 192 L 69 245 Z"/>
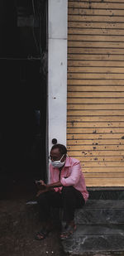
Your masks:
<path fill-rule="evenodd" d="M 1 198 L 46 180 L 47 1 L 0 2 Z"/>

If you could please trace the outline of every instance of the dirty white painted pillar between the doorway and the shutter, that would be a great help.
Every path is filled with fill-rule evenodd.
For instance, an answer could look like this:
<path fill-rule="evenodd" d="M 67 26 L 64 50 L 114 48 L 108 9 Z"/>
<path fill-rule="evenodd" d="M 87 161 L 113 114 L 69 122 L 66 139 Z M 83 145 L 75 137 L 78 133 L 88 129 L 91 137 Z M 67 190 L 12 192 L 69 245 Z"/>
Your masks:
<path fill-rule="evenodd" d="M 68 0 L 48 1 L 48 144 L 66 145 Z"/>

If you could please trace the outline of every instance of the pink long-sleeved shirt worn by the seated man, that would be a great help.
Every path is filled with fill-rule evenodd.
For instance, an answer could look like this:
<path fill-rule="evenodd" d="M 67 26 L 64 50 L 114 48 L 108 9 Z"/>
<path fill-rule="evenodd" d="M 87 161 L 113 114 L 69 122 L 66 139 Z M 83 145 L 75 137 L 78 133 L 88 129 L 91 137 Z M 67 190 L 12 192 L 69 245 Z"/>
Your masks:
<path fill-rule="evenodd" d="M 55 168 L 50 164 L 50 183 L 58 181 L 60 181 L 63 186 L 74 186 L 75 189 L 82 193 L 85 201 L 88 199 L 88 191 L 86 189 L 79 160 L 73 157 L 66 157 L 66 162 L 61 173 L 58 168 Z M 55 191 L 61 190 L 62 186 L 55 187 Z"/>

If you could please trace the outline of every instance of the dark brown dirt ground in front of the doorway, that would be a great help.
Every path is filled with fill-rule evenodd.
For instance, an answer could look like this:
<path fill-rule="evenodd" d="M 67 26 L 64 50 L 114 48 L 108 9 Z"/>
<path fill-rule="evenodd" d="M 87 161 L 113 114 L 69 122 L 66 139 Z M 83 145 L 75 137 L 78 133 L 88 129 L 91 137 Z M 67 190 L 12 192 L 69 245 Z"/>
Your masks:
<path fill-rule="evenodd" d="M 1 256 L 63 256 L 60 231 L 55 229 L 43 241 L 36 241 L 40 222 L 34 205 L 26 200 L 0 200 Z"/>

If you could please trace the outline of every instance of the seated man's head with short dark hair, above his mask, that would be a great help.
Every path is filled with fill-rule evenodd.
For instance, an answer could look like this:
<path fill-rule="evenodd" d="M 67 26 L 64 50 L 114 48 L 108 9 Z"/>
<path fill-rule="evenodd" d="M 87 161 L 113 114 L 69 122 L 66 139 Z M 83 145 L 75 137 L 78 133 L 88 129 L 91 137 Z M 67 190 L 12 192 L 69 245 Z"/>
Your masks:
<path fill-rule="evenodd" d="M 62 144 L 55 144 L 50 150 L 50 159 L 52 162 L 59 161 L 64 162 L 66 159 L 67 149 Z M 61 158 L 62 157 L 62 158 Z"/>

